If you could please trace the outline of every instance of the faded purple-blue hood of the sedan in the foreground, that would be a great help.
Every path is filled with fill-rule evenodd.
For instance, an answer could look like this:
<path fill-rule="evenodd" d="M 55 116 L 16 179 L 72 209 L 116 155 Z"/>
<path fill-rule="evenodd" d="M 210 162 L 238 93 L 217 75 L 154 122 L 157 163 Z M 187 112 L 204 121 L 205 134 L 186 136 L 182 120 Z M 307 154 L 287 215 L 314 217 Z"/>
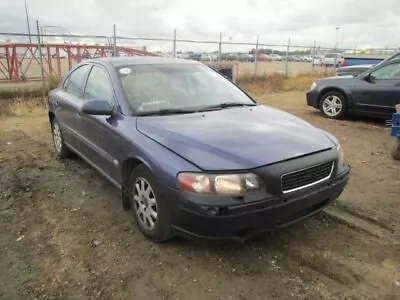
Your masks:
<path fill-rule="evenodd" d="M 330 149 L 309 123 L 266 106 L 139 117 L 137 129 L 202 170 L 244 170 Z"/>

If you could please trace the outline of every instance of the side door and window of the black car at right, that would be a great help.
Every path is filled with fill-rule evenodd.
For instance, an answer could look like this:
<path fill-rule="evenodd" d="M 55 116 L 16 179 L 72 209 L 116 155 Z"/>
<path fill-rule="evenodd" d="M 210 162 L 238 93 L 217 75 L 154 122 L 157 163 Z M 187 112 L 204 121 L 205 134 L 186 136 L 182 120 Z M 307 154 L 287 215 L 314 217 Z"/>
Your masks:
<path fill-rule="evenodd" d="M 355 109 L 359 113 L 390 117 L 400 103 L 400 61 L 373 70 L 353 87 Z"/>

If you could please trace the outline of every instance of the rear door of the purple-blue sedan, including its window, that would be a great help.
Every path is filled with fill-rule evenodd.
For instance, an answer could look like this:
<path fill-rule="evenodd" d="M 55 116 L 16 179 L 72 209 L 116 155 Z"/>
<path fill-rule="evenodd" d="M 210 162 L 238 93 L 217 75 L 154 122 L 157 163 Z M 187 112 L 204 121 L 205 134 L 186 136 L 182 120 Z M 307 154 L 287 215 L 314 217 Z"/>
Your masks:
<path fill-rule="evenodd" d="M 85 64 L 73 70 L 64 80 L 62 88 L 53 94 L 54 112 L 63 132 L 65 142 L 79 150 L 80 139 L 76 116 L 83 101 L 83 87 L 85 85 L 90 65 Z"/>

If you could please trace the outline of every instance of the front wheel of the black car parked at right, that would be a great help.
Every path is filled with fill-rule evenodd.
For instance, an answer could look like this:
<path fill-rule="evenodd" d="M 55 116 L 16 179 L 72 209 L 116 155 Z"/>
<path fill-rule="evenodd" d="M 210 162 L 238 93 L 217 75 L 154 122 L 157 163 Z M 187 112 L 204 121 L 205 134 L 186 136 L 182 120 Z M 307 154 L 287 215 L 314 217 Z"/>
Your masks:
<path fill-rule="evenodd" d="M 332 91 L 322 95 L 319 109 L 330 119 L 341 119 L 347 114 L 347 102 L 340 92 Z"/>

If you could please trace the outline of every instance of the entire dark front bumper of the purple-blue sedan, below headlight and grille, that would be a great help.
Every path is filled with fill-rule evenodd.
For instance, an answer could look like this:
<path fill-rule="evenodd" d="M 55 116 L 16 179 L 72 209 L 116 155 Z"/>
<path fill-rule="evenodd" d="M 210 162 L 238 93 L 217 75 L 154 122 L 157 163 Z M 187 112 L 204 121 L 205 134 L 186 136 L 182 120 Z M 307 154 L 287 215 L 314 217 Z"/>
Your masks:
<path fill-rule="evenodd" d="M 202 206 L 194 204 L 188 195 L 170 190 L 173 230 L 186 237 L 206 239 L 246 240 L 249 237 L 278 229 L 308 217 L 337 199 L 342 193 L 350 168 L 316 187 L 234 206 Z M 175 200 L 173 200 L 175 199 Z M 208 199 L 208 203 L 209 203 Z M 214 199 L 218 203 L 219 199 Z M 210 215 L 216 208 L 218 215 Z"/>

